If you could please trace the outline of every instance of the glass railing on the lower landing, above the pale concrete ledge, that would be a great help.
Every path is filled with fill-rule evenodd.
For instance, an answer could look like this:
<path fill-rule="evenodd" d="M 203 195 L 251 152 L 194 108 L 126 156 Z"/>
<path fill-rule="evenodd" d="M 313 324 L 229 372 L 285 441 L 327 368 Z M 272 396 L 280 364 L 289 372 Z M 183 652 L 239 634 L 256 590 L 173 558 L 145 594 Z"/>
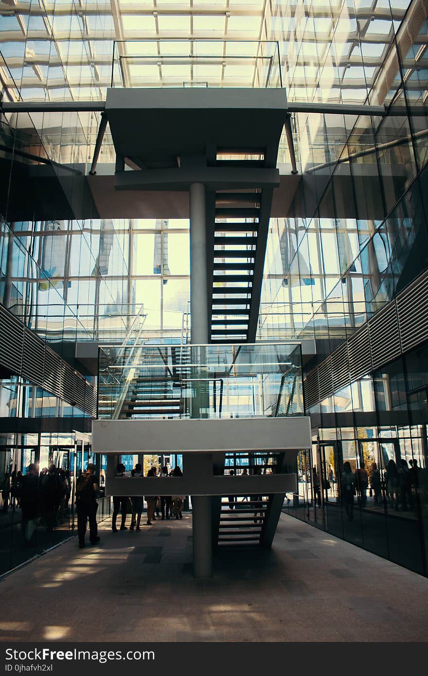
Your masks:
<path fill-rule="evenodd" d="M 98 382 L 110 420 L 304 415 L 296 343 L 104 346 Z"/>

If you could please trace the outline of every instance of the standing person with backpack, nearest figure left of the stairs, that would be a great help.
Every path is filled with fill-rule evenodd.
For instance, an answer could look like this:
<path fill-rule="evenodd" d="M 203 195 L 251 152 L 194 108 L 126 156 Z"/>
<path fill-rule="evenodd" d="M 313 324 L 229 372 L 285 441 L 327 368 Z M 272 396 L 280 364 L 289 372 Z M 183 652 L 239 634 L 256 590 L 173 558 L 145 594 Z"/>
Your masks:
<path fill-rule="evenodd" d="M 85 547 L 85 534 L 89 521 L 89 541 L 91 545 L 99 542 L 97 526 L 97 495 L 98 479 L 95 475 L 95 464 L 88 463 L 85 474 L 76 481 L 76 509 L 77 509 L 77 532 L 78 546 Z"/>

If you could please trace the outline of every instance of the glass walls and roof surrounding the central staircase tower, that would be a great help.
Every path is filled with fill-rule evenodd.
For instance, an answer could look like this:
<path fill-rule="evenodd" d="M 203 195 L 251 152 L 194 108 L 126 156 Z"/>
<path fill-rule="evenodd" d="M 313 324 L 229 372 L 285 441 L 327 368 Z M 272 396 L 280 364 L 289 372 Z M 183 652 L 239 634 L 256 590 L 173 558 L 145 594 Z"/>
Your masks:
<path fill-rule="evenodd" d="M 283 510 L 428 575 L 427 18 L 425 0 L 0 5 L 0 572 L 72 534 L 69 496 L 23 548 L 14 486 L 32 462 L 75 477 L 93 457 L 98 347 L 190 342 L 187 195 L 114 190 L 108 91 L 242 88 L 285 89 L 291 127 L 262 261 L 254 215 L 241 244 L 215 215 L 214 296 L 232 305 L 219 278 L 245 265 L 261 288 L 254 335 L 232 305 L 210 341 L 301 345 L 301 397 L 270 408 L 312 428 Z"/>

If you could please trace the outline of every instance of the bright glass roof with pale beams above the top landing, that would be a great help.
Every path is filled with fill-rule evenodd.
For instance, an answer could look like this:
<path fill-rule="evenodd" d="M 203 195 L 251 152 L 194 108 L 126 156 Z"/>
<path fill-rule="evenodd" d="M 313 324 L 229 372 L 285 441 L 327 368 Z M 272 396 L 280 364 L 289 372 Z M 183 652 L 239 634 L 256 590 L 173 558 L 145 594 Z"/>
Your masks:
<path fill-rule="evenodd" d="M 12 101 L 20 95 L 26 101 L 102 100 L 111 84 L 114 41 L 122 57 L 129 41 L 152 41 L 141 43 L 143 55 L 153 51 L 150 59 L 126 66 L 137 86 L 147 86 L 147 78 L 156 86 L 186 86 L 168 60 L 174 38 L 278 41 L 289 100 L 361 103 L 407 6 L 407 0 L 0 1 L 0 80 Z M 180 49 L 191 53 L 186 43 Z M 214 70 L 220 78 L 220 70 L 229 69 L 231 82 L 251 79 L 251 68 L 224 62 L 224 53 L 210 55 L 205 74 L 203 68 L 197 74 L 202 86 Z"/>

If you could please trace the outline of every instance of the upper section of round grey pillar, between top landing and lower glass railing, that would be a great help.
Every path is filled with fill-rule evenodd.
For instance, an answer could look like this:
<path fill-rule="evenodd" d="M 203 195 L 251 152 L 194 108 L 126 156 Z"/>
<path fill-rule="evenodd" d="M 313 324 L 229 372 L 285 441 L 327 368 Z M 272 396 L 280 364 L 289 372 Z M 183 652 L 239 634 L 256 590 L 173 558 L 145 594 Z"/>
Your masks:
<path fill-rule="evenodd" d="M 205 186 L 192 183 L 190 207 L 190 341 L 208 343 L 208 286 L 206 258 Z"/>

